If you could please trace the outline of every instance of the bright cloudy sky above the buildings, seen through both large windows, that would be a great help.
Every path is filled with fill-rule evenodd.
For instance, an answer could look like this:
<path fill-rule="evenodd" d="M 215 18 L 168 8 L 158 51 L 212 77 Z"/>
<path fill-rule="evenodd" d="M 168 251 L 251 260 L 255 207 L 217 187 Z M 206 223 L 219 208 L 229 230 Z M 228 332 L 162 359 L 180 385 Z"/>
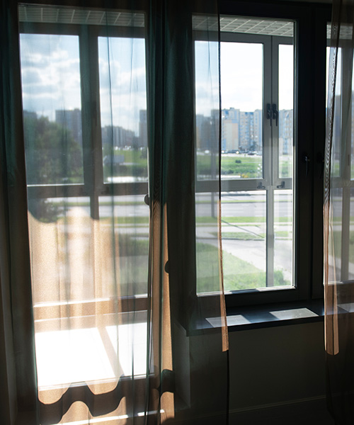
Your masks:
<path fill-rule="evenodd" d="M 222 108 L 262 107 L 261 44 L 222 42 Z M 292 46 L 280 50 L 280 109 L 292 108 Z M 147 108 L 144 39 L 98 38 L 102 125 L 139 131 Z M 109 57 L 109 62 L 108 62 Z M 195 43 L 196 113 L 218 108 L 217 42 Z M 21 34 L 23 108 L 55 120 L 57 109 L 81 109 L 79 38 Z"/>

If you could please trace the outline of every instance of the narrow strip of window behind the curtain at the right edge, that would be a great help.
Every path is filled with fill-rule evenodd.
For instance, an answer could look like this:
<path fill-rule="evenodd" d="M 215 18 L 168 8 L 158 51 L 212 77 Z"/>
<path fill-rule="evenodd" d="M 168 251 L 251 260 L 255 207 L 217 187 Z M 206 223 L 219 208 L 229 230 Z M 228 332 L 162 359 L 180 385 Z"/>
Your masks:
<path fill-rule="evenodd" d="M 337 69 L 333 108 L 333 145 L 331 151 L 331 226 L 329 267 L 331 282 L 353 280 L 354 236 L 351 226 L 354 195 L 354 77 L 350 42 L 353 28 L 341 26 L 341 40 L 337 50 Z M 327 26 L 331 40 L 331 24 Z M 343 52 L 346 54 L 343 55 Z M 327 74 L 330 47 L 327 47 Z M 331 76 L 333 78 L 333 76 Z M 340 293 L 340 290 L 338 290 Z M 339 298 L 338 298 L 339 299 Z"/>

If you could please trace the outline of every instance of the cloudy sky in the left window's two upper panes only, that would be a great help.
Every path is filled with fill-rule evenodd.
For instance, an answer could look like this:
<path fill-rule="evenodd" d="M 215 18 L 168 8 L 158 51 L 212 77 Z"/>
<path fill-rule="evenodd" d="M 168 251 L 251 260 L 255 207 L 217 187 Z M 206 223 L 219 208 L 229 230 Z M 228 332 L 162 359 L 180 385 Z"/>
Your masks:
<path fill-rule="evenodd" d="M 110 39 L 108 46 L 106 38 L 99 38 L 99 47 L 102 125 L 113 116 L 113 125 L 138 132 L 139 111 L 147 108 L 144 43 Z M 26 110 L 55 120 L 57 109 L 81 109 L 76 36 L 21 35 L 21 67 Z"/>

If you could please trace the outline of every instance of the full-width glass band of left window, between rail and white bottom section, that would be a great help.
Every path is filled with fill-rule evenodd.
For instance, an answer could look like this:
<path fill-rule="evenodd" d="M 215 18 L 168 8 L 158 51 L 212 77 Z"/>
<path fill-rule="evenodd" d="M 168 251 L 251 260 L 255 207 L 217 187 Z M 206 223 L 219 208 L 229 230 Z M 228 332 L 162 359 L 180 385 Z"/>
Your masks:
<path fill-rule="evenodd" d="M 102 196 L 98 208 L 99 221 L 89 197 L 28 200 L 34 305 L 147 293 L 144 196 Z M 104 259 L 99 267 L 95 258 Z"/>

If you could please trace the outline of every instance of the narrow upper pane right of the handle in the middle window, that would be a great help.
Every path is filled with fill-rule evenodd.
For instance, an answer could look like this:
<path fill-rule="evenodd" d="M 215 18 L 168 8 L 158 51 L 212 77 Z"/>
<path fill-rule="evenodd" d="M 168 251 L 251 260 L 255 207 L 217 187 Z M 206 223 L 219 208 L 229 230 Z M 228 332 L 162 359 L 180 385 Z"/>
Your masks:
<path fill-rule="evenodd" d="M 292 177 L 294 46 L 279 45 L 279 177 Z"/>

